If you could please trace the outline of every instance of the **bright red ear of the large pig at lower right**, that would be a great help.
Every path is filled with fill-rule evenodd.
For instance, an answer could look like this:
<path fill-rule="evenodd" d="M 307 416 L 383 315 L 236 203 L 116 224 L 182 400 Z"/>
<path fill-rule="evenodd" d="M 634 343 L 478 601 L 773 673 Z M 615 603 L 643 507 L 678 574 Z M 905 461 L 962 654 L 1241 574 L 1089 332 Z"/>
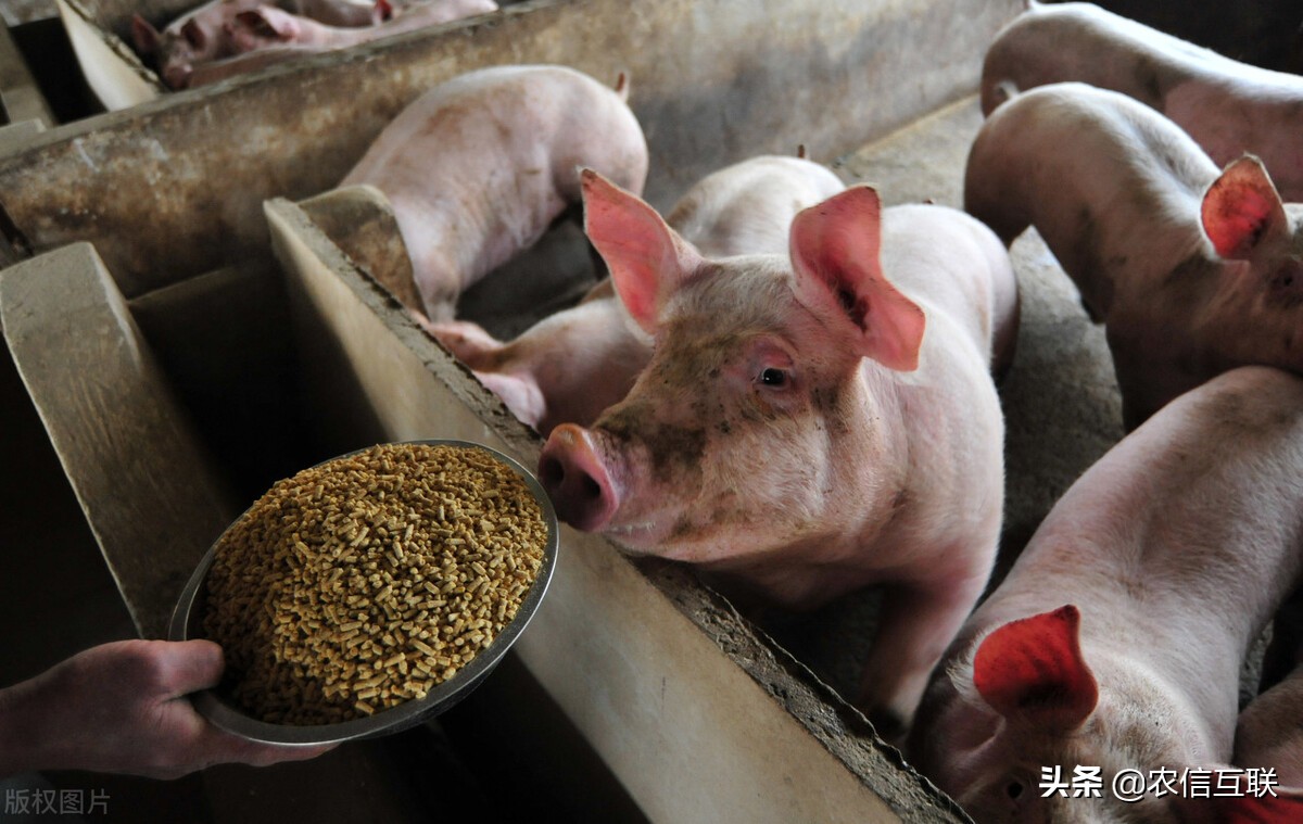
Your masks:
<path fill-rule="evenodd" d="M 1070 604 L 999 627 L 973 657 L 977 692 L 1006 718 L 1055 730 L 1079 728 L 1100 698 L 1081 658 L 1079 626 L 1080 613 Z"/>

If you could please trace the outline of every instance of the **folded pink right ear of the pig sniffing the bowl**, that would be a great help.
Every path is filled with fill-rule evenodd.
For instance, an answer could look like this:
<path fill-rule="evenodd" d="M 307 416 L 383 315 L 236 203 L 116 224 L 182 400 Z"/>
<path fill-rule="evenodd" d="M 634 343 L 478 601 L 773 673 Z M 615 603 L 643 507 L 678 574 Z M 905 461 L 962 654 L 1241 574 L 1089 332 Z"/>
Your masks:
<path fill-rule="evenodd" d="M 919 368 L 926 317 L 882 274 L 882 202 L 869 186 L 851 186 L 792 220 L 797 299 L 846 316 L 856 351 L 900 372 Z"/>

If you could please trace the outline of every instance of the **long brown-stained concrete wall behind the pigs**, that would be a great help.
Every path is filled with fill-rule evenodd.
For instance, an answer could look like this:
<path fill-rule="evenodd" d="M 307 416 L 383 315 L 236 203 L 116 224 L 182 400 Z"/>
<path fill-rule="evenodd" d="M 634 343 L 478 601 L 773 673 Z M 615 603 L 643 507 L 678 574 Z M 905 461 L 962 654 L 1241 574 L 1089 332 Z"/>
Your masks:
<path fill-rule="evenodd" d="M 263 199 L 334 186 L 422 90 L 500 63 L 629 72 L 665 206 L 743 156 L 827 160 L 960 96 L 1018 5 L 534 0 L 53 129 L 0 159 L 5 233 L 93 241 L 128 297 L 265 257 Z"/>

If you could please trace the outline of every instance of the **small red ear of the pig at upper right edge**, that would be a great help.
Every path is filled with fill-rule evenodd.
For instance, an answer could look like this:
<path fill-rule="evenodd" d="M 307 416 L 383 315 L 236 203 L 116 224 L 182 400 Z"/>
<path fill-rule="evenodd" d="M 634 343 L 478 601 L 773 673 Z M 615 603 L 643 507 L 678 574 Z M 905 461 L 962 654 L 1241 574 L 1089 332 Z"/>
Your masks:
<path fill-rule="evenodd" d="M 1243 261 L 1263 239 L 1287 231 L 1285 207 L 1261 162 L 1235 160 L 1204 193 L 1204 232 L 1217 254 Z"/>

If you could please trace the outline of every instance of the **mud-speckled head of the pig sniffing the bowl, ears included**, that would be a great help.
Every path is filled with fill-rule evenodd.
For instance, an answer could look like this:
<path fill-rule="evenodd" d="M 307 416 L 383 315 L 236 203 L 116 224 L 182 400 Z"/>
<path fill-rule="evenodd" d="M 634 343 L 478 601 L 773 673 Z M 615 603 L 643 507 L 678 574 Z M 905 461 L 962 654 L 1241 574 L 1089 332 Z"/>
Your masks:
<path fill-rule="evenodd" d="M 545 446 L 539 475 L 566 520 L 636 552 L 727 562 L 818 546 L 898 492 L 904 468 L 880 460 L 890 433 L 861 364 L 913 369 L 924 318 L 876 270 L 872 189 L 797 215 L 791 261 L 711 261 L 640 199 L 592 173 L 584 186 L 589 236 L 655 349 L 590 430 L 558 426 Z M 829 211 L 846 224 L 835 237 Z M 830 259 L 846 243 L 873 271 Z M 870 305 L 872 334 L 857 325 Z"/>

